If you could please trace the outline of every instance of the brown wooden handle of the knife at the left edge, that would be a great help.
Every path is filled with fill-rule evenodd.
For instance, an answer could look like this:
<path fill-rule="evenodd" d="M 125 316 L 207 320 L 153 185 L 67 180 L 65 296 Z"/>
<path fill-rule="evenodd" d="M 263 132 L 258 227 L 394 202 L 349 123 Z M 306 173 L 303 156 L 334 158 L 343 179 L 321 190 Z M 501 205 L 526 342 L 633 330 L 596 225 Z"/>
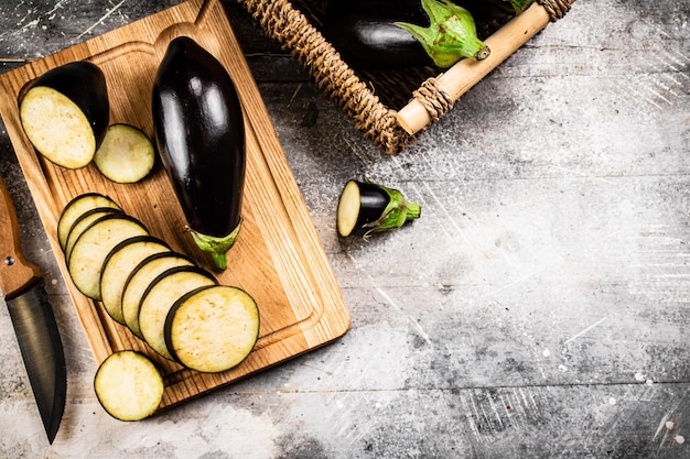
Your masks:
<path fill-rule="evenodd" d="M 41 269 L 22 254 L 12 198 L 0 177 L 0 291 L 12 299 L 41 278 Z"/>

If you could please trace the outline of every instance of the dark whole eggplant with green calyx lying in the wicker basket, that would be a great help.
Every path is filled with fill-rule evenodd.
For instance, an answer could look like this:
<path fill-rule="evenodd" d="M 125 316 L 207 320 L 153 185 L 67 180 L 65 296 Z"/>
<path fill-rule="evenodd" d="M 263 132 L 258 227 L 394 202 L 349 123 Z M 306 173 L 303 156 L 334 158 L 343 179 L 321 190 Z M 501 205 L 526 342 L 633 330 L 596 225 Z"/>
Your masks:
<path fill-rule="evenodd" d="M 490 53 L 472 13 L 450 0 L 334 1 L 322 32 L 349 65 L 363 69 L 450 67 Z"/>

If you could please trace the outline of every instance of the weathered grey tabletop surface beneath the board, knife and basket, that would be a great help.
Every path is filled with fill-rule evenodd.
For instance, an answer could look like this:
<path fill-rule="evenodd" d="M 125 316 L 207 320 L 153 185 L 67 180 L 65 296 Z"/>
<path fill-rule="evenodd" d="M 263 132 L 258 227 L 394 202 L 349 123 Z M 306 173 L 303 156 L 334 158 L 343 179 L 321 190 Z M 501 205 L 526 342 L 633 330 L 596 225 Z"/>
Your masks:
<path fill-rule="evenodd" d="M 2 1 L 0 70 L 174 3 Z M 52 281 L 69 384 L 48 447 L 1 307 L 0 457 L 690 457 L 687 0 L 575 2 L 396 156 L 226 4 L 352 330 L 161 416 L 110 418 L 3 129 L 2 177 Z M 363 176 L 422 218 L 338 239 L 341 187 Z"/>

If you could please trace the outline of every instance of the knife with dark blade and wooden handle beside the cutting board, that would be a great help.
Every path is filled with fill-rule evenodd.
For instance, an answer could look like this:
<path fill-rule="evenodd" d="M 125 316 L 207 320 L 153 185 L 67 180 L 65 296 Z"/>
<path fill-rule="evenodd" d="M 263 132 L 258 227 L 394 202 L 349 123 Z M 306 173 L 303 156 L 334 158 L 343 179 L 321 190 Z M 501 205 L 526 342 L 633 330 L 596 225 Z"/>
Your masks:
<path fill-rule="evenodd" d="M 39 413 L 53 442 L 65 409 L 67 371 L 57 324 L 41 269 L 21 250 L 19 225 L 0 178 L 0 291 L 10 312 Z"/>

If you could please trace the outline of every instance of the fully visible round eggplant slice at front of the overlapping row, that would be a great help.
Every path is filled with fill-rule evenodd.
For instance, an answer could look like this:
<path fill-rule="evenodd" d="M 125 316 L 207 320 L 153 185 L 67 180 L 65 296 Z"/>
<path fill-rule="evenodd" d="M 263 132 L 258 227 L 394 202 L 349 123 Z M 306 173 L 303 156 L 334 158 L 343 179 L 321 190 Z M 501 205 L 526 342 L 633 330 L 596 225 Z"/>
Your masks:
<path fill-rule="evenodd" d="M 259 336 L 259 309 L 245 291 L 201 287 L 175 302 L 165 319 L 165 346 L 186 368 L 216 373 L 238 365 Z"/>

